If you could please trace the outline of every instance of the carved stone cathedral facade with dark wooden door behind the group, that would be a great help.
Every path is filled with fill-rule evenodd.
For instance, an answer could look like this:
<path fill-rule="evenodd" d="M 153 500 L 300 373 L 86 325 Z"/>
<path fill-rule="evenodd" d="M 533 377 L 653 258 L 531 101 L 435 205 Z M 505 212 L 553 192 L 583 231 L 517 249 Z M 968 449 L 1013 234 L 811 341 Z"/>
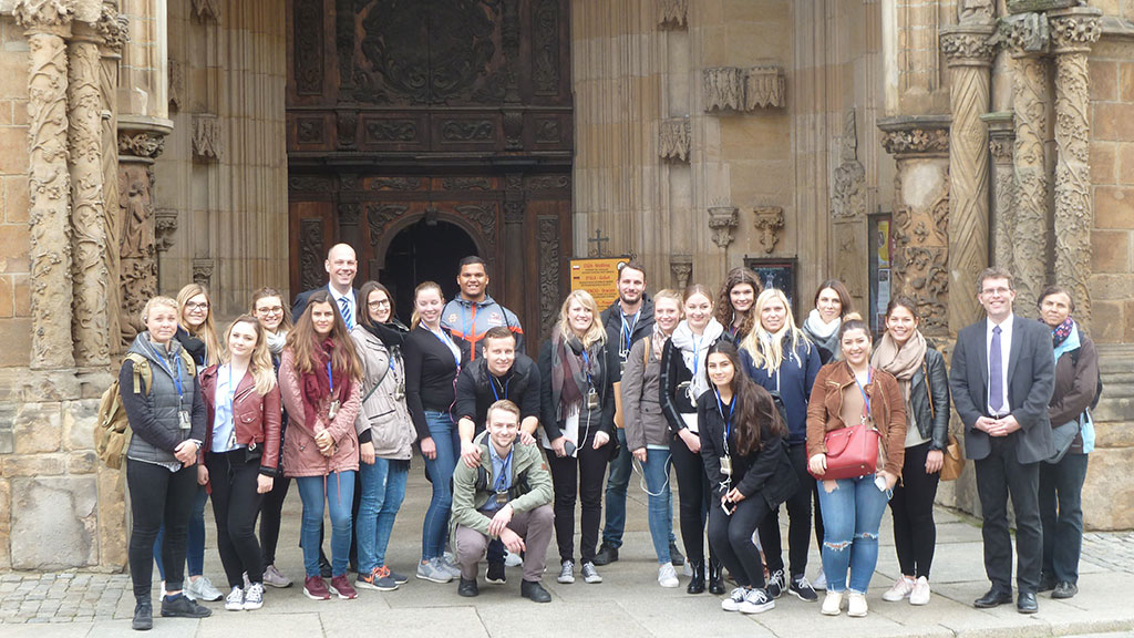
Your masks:
<path fill-rule="evenodd" d="M 92 427 L 149 296 L 225 322 L 338 241 L 399 300 L 485 257 L 532 342 L 589 257 L 909 295 L 947 353 L 982 268 L 1063 284 L 1134 528 L 1127 0 L 0 0 L 0 570 L 126 563 Z"/>

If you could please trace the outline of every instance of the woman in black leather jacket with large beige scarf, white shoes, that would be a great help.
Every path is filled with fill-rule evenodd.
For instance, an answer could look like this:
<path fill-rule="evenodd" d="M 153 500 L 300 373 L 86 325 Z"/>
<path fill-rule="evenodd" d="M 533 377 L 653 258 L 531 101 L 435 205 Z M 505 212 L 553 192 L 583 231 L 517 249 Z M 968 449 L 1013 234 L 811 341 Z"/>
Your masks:
<path fill-rule="evenodd" d="M 949 373 L 945 358 L 917 329 L 913 300 L 899 296 L 886 309 L 886 334 L 871 363 L 898 380 L 906 404 L 905 461 L 894 487 L 894 549 L 902 576 L 882 594 L 891 603 L 929 604 L 929 571 L 937 545 L 933 500 L 949 437 Z"/>

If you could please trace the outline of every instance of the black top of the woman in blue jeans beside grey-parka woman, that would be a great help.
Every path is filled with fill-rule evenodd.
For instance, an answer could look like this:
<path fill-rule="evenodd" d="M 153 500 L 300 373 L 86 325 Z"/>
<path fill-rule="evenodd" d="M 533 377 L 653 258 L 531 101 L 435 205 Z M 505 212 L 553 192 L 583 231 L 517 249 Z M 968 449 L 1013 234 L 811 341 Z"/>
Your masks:
<path fill-rule="evenodd" d="M 457 361 L 449 346 L 421 326 L 406 335 L 406 406 L 417 429 L 417 439 L 430 436 L 425 411 L 447 412 L 454 402 Z"/>

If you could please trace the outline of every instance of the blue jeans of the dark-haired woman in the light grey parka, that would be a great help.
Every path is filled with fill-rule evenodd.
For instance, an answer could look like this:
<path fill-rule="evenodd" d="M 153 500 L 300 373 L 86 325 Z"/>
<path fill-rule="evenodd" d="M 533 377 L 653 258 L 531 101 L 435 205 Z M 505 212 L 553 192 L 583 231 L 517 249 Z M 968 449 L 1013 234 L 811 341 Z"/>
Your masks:
<path fill-rule="evenodd" d="M 406 497 L 408 461 L 374 459 L 373 465 L 358 463 L 362 479 L 362 502 L 355 535 L 358 539 L 358 573 L 366 576 L 386 564 L 386 547 L 390 543 L 393 519 Z"/>

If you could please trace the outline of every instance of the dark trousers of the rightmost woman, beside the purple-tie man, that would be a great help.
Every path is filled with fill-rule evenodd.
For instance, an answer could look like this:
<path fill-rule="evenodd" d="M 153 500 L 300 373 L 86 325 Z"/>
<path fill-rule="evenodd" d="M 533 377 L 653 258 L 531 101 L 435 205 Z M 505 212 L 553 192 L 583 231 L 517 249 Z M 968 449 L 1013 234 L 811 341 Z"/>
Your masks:
<path fill-rule="evenodd" d="M 1058 582 L 1078 582 L 1086 460 L 1086 454 L 1068 452 L 1058 463 L 1040 463 L 1043 573 L 1051 574 Z"/>

